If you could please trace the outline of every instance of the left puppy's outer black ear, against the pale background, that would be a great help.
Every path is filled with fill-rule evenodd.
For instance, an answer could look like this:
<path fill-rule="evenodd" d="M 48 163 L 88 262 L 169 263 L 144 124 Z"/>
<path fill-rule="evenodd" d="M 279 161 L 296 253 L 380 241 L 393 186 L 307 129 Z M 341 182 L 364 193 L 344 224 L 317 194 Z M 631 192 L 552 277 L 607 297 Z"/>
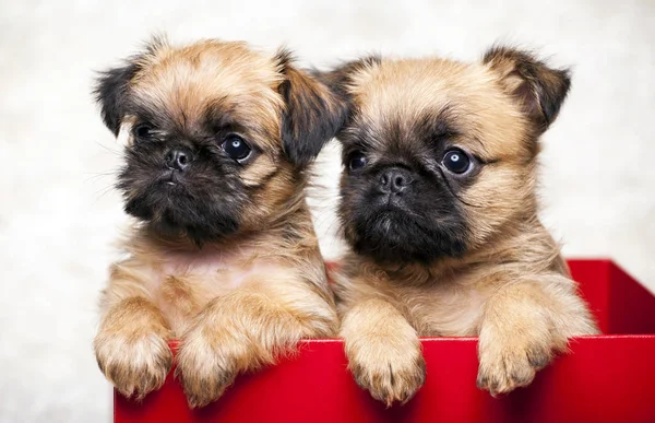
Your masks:
<path fill-rule="evenodd" d="M 136 71 L 138 66 L 128 62 L 123 67 L 102 72 L 96 80 L 93 94 L 100 105 L 100 116 L 107 128 L 117 137 L 127 111 L 130 81 Z"/>

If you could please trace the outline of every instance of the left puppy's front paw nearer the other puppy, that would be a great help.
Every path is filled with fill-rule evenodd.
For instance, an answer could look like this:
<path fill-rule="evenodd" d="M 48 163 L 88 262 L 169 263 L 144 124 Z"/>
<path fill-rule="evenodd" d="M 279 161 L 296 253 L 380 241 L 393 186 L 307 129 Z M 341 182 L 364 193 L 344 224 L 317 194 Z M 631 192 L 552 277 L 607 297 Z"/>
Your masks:
<path fill-rule="evenodd" d="M 239 371 L 248 367 L 249 346 L 227 333 L 212 333 L 216 331 L 194 329 L 182 338 L 175 375 L 191 408 L 217 400 Z"/>

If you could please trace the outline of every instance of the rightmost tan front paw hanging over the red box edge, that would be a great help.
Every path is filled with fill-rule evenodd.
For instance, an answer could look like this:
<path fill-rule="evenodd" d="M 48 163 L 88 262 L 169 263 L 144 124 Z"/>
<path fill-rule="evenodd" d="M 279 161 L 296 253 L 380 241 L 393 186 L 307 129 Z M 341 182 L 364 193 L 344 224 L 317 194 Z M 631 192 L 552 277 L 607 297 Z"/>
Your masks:
<path fill-rule="evenodd" d="M 552 348 L 546 340 L 490 341 L 481 345 L 477 386 L 492 396 L 529 385 L 535 374 L 552 359 Z"/>

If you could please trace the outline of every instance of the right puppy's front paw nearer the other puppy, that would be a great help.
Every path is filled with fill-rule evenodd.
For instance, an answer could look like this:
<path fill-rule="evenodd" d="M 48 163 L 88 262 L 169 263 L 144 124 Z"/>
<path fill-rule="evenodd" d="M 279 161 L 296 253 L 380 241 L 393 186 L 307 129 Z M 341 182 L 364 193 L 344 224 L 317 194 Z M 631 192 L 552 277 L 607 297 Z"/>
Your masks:
<path fill-rule="evenodd" d="M 348 367 L 357 385 L 386 407 L 405 403 L 426 380 L 426 363 L 416 342 L 368 339 L 348 351 Z"/>

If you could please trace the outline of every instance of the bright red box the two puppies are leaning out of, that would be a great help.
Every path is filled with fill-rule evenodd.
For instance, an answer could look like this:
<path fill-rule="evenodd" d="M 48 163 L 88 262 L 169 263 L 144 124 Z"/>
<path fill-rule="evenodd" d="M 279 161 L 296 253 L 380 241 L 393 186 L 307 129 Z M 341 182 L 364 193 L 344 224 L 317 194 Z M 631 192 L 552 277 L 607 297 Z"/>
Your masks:
<path fill-rule="evenodd" d="M 189 410 L 170 375 L 142 403 L 115 393 L 114 421 L 655 422 L 655 297 L 609 260 L 569 265 L 608 334 L 572 340 L 570 354 L 504 397 L 476 388 L 475 338 L 425 339 L 426 385 L 390 409 L 353 381 L 341 341 L 314 340 L 295 359 L 239 377 L 204 409 Z"/>

